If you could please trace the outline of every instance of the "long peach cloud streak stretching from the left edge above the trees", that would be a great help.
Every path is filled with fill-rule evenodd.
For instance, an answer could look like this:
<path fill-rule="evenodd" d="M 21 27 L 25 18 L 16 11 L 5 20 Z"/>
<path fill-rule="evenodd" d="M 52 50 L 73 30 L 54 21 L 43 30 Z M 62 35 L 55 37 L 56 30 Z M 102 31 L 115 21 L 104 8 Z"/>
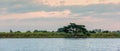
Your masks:
<path fill-rule="evenodd" d="M 13 13 L 0 15 L 2 20 L 5 19 L 31 19 L 31 18 L 65 18 L 65 17 L 77 16 L 77 14 L 72 14 L 70 10 L 63 11 L 38 11 L 38 12 L 26 12 L 26 13 Z"/>

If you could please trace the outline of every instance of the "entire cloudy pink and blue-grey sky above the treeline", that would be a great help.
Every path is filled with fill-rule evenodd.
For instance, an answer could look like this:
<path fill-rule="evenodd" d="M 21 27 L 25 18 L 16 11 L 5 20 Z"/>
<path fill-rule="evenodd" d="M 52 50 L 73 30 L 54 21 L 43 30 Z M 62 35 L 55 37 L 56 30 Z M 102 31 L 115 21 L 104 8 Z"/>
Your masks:
<path fill-rule="evenodd" d="M 0 0 L 0 31 L 56 31 L 76 23 L 120 30 L 120 0 Z"/>

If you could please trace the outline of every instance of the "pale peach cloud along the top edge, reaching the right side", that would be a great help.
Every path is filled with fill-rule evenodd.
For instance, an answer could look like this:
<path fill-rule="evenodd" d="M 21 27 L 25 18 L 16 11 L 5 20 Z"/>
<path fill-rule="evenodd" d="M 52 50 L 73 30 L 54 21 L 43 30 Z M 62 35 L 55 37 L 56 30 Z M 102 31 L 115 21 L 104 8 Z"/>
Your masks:
<path fill-rule="evenodd" d="M 120 0 L 35 0 L 33 3 L 47 6 L 87 6 L 94 4 L 119 4 Z"/>

